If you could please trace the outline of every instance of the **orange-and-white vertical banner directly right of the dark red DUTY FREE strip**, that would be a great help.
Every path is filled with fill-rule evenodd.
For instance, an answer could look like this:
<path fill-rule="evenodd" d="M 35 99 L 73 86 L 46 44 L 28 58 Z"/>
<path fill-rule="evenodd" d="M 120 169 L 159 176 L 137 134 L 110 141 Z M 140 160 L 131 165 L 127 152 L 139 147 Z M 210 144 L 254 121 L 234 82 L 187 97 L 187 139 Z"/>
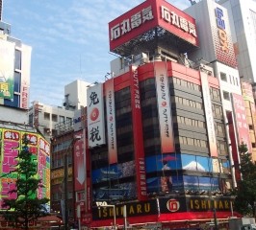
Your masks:
<path fill-rule="evenodd" d="M 166 62 L 154 63 L 162 153 L 175 151 Z"/>

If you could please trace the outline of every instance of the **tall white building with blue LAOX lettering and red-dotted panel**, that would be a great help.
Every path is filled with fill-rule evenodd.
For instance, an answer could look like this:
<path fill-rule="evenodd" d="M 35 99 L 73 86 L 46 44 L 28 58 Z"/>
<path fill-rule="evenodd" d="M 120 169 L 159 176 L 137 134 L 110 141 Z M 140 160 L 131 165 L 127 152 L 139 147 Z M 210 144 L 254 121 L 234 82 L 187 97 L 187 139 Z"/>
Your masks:
<path fill-rule="evenodd" d="M 239 172 L 237 148 L 242 142 L 247 145 L 254 160 L 256 157 L 255 115 L 253 115 L 255 114 L 255 104 L 248 96 L 248 94 L 252 95 L 251 86 L 244 79 L 241 81 L 239 71 L 242 66 L 238 65 L 236 61 L 232 30 L 230 29 L 233 20 L 228 16 L 231 12 L 212 0 L 200 1 L 186 9 L 185 12 L 192 15 L 197 24 L 203 28 L 198 33 L 200 49 L 189 52 L 188 56 L 195 60 L 203 58 L 214 67 L 215 76 L 218 77 L 220 84 L 224 119 L 226 124 L 229 124 L 227 131 L 235 132 L 233 137 L 232 135 L 230 137 L 232 140 L 228 140 L 231 144 L 229 146 L 231 163 L 235 166 L 233 169 Z M 244 65 L 244 61 L 242 62 Z M 239 109 L 238 105 L 243 106 L 243 110 Z M 235 124 L 235 129 L 233 124 Z M 236 181 L 234 183 L 236 185 Z"/>

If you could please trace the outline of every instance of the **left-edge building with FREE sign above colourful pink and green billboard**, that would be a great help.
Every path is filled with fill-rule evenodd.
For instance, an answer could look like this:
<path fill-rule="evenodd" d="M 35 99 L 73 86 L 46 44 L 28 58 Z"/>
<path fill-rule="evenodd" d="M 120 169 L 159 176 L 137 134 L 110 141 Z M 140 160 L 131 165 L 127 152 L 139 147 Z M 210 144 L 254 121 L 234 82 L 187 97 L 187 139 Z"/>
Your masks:
<path fill-rule="evenodd" d="M 38 163 L 38 178 L 43 187 L 38 188 L 38 197 L 50 198 L 50 145 L 34 127 L 28 126 L 31 47 L 11 36 L 11 25 L 2 21 L 0 1 L 0 211 L 7 207 L 3 198 L 17 198 L 15 190 L 18 174 L 15 171 L 18 153 L 26 135 Z M 35 222 L 37 226 L 39 223 Z M 10 224 L 3 219 L 0 228 Z M 32 223 L 33 225 L 33 223 Z M 34 226 L 32 226 L 34 227 Z M 11 228 L 10 228 L 11 229 Z M 13 229 L 13 227 L 12 227 Z"/>

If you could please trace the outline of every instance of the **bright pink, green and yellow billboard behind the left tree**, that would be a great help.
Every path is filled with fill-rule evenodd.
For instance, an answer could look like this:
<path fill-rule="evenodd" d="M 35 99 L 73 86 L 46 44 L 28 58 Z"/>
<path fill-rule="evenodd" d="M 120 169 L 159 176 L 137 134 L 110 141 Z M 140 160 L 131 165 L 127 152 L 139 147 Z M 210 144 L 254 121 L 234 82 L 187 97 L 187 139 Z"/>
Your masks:
<path fill-rule="evenodd" d="M 50 198 L 50 145 L 40 135 L 33 132 L 25 132 L 9 128 L 0 128 L 0 210 L 3 198 L 16 198 L 15 193 L 9 191 L 15 189 L 17 173 L 13 172 L 18 163 L 18 153 L 22 148 L 22 138 L 27 134 L 30 140 L 28 148 L 33 153 L 33 160 L 38 162 L 38 179 L 41 179 L 43 188 L 38 189 L 38 198 Z"/>

